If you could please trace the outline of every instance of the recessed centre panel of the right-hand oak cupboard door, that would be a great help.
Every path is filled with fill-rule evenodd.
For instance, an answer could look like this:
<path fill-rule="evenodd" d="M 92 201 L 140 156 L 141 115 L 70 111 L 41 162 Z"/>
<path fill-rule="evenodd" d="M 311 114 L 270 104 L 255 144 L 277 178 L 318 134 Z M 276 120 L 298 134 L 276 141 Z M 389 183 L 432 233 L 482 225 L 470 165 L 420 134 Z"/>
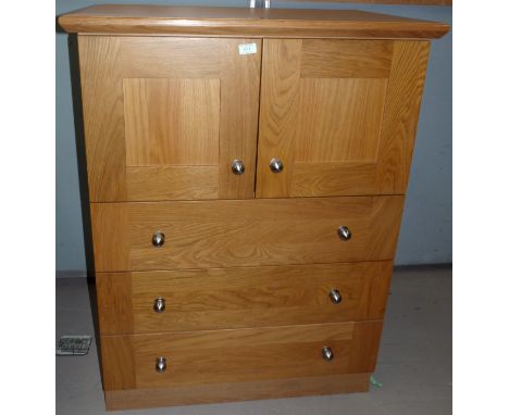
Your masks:
<path fill-rule="evenodd" d="M 300 79 L 294 163 L 376 163 L 386 87 L 376 78 Z"/>

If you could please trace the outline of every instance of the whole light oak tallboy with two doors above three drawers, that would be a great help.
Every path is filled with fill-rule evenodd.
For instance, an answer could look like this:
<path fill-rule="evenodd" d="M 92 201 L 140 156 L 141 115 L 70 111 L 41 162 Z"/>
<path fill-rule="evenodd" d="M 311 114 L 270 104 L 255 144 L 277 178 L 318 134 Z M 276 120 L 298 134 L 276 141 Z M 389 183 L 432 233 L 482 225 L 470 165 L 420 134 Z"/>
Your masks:
<path fill-rule="evenodd" d="M 368 390 L 448 26 L 148 5 L 59 23 L 78 34 L 107 407 Z"/>

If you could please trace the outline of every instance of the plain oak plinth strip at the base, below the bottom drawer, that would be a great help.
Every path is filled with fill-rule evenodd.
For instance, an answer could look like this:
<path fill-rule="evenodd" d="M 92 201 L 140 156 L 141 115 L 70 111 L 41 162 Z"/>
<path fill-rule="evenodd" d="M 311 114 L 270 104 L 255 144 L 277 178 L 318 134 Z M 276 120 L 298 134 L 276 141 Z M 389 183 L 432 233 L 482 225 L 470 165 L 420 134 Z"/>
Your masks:
<path fill-rule="evenodd" d="M 177 388 L 127 389 L 104 392 L 108 411 L 251 401 L 302 395 L 367 392 L 371 374 L 318 376 L 262 381 L 211 383 Z"/>

